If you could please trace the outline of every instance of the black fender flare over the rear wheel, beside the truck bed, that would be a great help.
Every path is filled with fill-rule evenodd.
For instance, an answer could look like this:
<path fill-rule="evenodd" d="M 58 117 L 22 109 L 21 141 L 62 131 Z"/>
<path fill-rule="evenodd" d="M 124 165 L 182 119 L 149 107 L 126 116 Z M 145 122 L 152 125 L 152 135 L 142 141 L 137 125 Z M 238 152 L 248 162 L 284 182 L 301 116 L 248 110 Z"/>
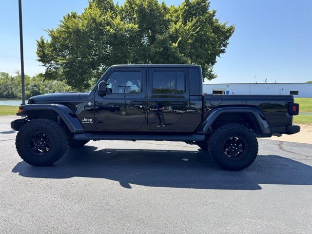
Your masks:
<path fill-rule="evenodd" d="M 248 113 L 254 116 L 260 129 L 260 134 L 270 135 L 271 130 L 262 112 L 257 107 L 216 107 L 213 109 L 203 123 L 198 127 L 197 133 L 207 134 L 215 119 L 224 113 Z"/>

